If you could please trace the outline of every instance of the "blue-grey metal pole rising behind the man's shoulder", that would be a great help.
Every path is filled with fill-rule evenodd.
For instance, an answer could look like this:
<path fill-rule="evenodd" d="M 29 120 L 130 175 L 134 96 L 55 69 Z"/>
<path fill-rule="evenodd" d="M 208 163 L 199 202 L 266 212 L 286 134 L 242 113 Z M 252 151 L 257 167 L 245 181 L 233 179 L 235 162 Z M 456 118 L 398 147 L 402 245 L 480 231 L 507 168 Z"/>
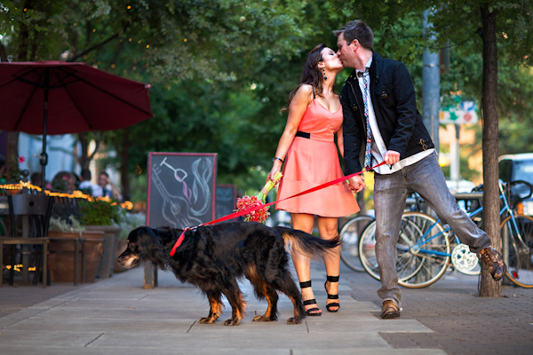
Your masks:
<path fill-rule="evenodd" d="M 424 30 L 428 40 L 434 40 L 433 24 L 428 22 L 429 11 L 424 12 Z M 438 51 L 424 51 L 422 69 L 422 119 L 439 152 L 439 111 L 441 109 L 441 71 Z"/>

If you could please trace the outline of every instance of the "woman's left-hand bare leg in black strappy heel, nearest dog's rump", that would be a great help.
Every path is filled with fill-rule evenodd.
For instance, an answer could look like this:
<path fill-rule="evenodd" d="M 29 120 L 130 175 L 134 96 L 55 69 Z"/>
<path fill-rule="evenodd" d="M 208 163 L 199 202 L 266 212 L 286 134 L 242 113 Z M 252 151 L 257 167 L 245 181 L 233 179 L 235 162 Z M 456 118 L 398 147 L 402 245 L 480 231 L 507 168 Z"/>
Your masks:
<path fill-rule="evenodd" d="M 313 233 L 314 225 L 314 215 L 308 215 L 305 213 L 291 213 L 292 217 L 292 228 L 304 231 L 306 233 Z M 306 282 L 311 280 L 311 258 L 303 254 L 298 253 L 298 251 L 292 252 L 292 263 L 298 274 L 298 280 L 300 282 Z M 313 288 L 302 288 L 302 300 L 314 299 Z M 316 304 L 306 304 L 306 311 L 311 308 L 316 308 Z M 311 313 L 322 313 L 322 311 L 316 310 L 311 311 Z"/>

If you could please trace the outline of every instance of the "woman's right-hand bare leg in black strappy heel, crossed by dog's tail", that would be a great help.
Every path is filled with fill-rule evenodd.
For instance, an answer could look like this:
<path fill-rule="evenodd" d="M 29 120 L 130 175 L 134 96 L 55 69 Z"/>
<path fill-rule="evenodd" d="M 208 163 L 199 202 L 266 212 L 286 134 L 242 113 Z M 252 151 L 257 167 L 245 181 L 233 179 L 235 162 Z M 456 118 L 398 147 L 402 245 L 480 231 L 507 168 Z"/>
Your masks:
<path fill-rule="evenodd" d="M 325 240 L 330 240 L 338 235 L 338 218 L 336 217 L 318 217 L 317 220 L 318 231 L 320 237 Z M 326 266 L 326 273 L 328 276 L 338 277 L 340 270 L 340 247 L 330 249 L 330 251 L 323 254 L 324 264 Z M 338 295 L 338 281 L 327 281 L 326 291 L 329 295 Z M 327 304 L 338 304 L 338 299 L 328 298 Z M 331 305 L 328 310 L 330 312 L 337 312 L 338 305 Z"/>

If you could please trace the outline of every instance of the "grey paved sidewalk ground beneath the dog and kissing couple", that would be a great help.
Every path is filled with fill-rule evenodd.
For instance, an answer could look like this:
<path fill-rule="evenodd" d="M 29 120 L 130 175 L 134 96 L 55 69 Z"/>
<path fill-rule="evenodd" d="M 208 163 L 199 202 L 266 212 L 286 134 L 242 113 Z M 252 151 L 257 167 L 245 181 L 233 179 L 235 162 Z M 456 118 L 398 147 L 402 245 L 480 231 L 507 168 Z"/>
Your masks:
<path fill-rule="evenodd" d="M 500 298 L 481 298 L 477 277 L 449 273 L 431 288 L 403 289 L 400 319 L 379 319 L 378 281 L 343 267 L 338 313 L 325 310 L 322 264 L 313 265 L 314 294 L 322 317 L 285 323 L 292 304 L 280 297 L 281 317 L 251 319 L 266 303 L 253 296 L 238 327 L 225 327 L 228 304 L 212 325 L 198 323 L 209 304 L 198 289 L 159 272 L 159 287 L 142 288 L 142 269 L 73 287 L 0 288 L 2 354 L 463 354 L 533 351 L 533 289 L 505 287 Z M 54 292 L 57 292 L 54 294 Z M 42 302 L 36 302 L 41 294 Z M 34 296 L 29 296 L 34 295 Z M 33 298 L 32 298 L 33 297 Z M 28 301 L 24 301 L 28 299 Z M 18 304 L 10 308 L 9 301 Z"/>

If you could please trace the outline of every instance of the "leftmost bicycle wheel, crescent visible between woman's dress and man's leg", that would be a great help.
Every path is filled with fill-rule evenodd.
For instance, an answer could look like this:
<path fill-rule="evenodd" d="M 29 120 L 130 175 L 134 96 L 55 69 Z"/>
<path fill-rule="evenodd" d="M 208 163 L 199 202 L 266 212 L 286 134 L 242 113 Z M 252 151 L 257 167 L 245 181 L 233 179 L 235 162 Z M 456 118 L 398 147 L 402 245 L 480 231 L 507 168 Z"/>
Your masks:
<path fill-rule="evenodd" d="M 355 272 L 364 272 L 359 258 L 359 238 L 365 228 L 374 221 L 374 217 L 362 215 L 350 219 L 342 226 L 340 236 L 340 259 Z"/>

